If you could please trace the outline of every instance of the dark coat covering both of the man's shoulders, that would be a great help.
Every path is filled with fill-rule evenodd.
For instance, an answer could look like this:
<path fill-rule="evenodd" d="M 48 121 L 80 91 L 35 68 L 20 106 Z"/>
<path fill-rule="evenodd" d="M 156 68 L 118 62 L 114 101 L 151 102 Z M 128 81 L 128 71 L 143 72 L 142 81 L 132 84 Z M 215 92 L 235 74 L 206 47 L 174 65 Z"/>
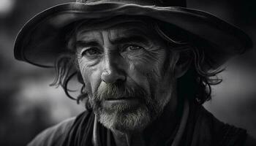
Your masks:
<path fill-rule="evenodd" d="M 110 130 L 99 126 L 99 143 L 101 145 L 115 145 Z M 46 129 L 39 134 L 29 146 L 59 146 L 59 145 L 86 145 L 93 146 L 92 134 L 94 114 L 83 112 L 78 118 L 72 118 Z M 250 146 L 256 145 L 253 139 L 247 138 L 246 131 L 222 123 L 204 109 L 203 106 L 190 105 L 189 118 L 182 136 L 182 146 Z M 165 142 L 171 145 L 172 137 Z"/>

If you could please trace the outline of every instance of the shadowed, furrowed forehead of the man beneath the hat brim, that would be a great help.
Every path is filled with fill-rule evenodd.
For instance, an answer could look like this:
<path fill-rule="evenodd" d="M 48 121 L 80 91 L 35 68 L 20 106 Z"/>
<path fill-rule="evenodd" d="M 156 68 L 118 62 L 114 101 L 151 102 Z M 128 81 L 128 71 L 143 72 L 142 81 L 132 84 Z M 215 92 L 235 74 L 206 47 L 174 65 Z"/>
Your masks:
<path fill-rule="evenodd" d="M 112 37 L 122 37 L 129 34 L 152 36 L 153 21 L 139 18 L 112 18 L 108 20 L 87 20 L 76 28 L 76 37 L 90 34 L 92 31 L 111 31 Z M 111 34 L 111 33 L 110 33 Z"/>

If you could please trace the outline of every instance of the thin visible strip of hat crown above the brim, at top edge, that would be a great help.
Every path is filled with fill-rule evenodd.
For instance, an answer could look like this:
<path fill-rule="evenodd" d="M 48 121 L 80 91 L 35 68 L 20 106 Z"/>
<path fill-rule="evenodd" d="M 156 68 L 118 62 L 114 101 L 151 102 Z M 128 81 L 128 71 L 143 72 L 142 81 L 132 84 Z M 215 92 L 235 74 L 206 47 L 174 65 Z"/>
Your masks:
<path fill-rule="evenodd" d="M 126 4 L 140 4 L 140 5 L 156 5 L 159 7 L 186 7 L 186 0 L 76 0 L 80 3 L 104 3 L 104 2 L 118 2 Z"/>

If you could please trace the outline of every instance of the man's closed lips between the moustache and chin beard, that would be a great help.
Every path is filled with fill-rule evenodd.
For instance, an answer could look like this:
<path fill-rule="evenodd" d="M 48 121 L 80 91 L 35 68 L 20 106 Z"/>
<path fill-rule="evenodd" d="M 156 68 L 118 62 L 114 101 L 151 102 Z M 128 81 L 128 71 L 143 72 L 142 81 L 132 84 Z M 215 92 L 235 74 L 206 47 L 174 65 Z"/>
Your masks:
<path fill-rule="evenodd" d="M 103 107 L 113 107 L 120 104 L 126 104 L 129 107 L 136 107 L 138 104 L 140 104 L 140 101 L 136 98 L 130 98 L 130 99 L 108 99 L 103 101 L 102 106 Z"/>

